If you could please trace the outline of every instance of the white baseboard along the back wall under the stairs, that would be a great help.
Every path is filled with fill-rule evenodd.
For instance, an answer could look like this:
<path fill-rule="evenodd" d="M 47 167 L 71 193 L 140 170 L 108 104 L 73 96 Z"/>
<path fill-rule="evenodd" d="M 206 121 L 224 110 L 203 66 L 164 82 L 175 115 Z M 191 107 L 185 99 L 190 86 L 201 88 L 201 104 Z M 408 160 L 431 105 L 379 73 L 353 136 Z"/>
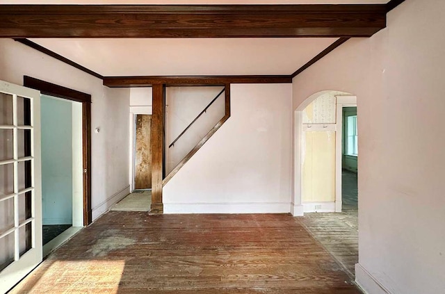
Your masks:
<path fill-rule="evenodd" d="M 289 213 L 289 202 L 164 203 L 164 213 Z"/>

